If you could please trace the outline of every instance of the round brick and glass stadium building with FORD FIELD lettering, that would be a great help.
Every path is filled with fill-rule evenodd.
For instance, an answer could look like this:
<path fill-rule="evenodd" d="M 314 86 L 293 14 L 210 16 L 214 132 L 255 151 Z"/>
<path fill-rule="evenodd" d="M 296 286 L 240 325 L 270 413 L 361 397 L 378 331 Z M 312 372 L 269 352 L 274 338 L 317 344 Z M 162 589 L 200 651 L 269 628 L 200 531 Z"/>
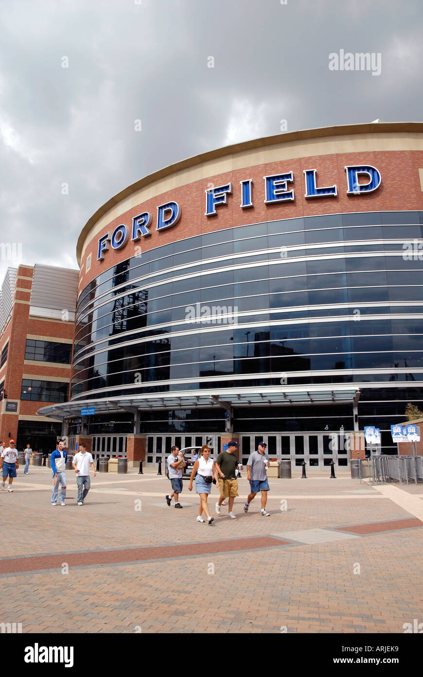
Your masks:
<path fill-rule="evenodd" d="M 134 464 L 234 438 L 243 460 L 265 439 L 293 466 L 346 469 L 368 424 L 393 453 L 390 425 L 423 400 L 422 228 L 423 123 L 161 169 L 80 234 L 70 400 L 39 414 L 66 422 L 71 451 Z"/>

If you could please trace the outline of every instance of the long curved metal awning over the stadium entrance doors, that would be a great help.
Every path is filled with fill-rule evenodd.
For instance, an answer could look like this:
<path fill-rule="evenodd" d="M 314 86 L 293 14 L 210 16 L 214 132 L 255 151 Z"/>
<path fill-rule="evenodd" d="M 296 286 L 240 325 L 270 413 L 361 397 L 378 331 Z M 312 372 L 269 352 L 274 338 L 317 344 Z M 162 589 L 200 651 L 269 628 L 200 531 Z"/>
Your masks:
<path fill-rule="evenodd" d="M 81 409 L 95 407 L 95 414 L 107 414 L 111 412 L 130 411 L 143 412 L 149 410 L 164 409 L 195 409 L 195 408 L 220 408 L 224 403 L 231 407 L 249 406 L 292 406 L 309 404 L 351 404 L 359 397 L 357 388 L 340 387 L 339 389 L 330 384 L 319 386 L 316 390 L 309 387 L 263 387 L 257 389 L 239 388 L 236 391 L 230 388 L 206 391 L 196 390 L 191 392 L 173 391 L 148 395 L 128 395 L 128 397 L 105 397 L 103 399 L 74 399 L 63 404 L 51 404 L 39 409 L 36 413 L 40 416 L 48 416 L 62 420 L 81 416 Z"/>

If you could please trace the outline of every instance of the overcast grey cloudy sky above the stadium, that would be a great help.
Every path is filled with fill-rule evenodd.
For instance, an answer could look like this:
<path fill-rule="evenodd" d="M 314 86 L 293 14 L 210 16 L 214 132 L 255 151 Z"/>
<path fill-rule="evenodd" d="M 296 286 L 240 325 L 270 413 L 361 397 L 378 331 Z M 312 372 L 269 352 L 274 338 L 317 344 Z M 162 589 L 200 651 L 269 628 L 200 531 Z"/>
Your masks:
<path fill-rule="evenodd" d="M 422 0 L 3 0 L 0 16 L 0 243 L 22 263 L 77 268 L 111 196 L 283 120 L 422 121 Z M 330 70 L 341 49 L 380 54 L 380 74 Z"/>

